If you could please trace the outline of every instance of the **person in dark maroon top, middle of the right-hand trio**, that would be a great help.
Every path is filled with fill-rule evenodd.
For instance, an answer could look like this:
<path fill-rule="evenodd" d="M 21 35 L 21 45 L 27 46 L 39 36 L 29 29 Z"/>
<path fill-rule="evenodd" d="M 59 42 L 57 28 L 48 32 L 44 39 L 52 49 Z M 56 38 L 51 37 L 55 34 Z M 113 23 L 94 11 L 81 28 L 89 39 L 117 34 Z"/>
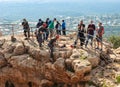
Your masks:
<path fill-rule="evenodd" d="M 91 20 L 87 28 L 87 40 L 85 47 L 87 47 L 89 39 L 91 40 L 91 47 L 92 47 L 94 31 L 95 31 L 95 24 L 93 24 L 93 21 Z"/>

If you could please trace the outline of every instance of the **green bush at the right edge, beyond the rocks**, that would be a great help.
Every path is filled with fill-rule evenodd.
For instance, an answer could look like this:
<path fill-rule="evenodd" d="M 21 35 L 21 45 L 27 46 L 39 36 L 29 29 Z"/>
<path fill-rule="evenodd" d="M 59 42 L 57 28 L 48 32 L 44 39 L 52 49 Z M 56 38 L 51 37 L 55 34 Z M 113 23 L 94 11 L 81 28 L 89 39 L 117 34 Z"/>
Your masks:
<path fill-rule="evenodd" d="M 108 40 L 113 44 L 113 48 L 120 47 L 120 36 L 110 36 Z"/>

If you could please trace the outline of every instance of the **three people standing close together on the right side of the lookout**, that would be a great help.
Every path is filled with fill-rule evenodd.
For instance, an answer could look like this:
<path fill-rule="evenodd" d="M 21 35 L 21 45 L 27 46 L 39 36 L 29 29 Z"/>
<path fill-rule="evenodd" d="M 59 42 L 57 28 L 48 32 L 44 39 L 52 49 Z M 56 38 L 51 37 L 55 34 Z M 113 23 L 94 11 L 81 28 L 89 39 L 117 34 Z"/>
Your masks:
<path fill-rule="evenodd" d="M 91 40 L 91 47 L 93 47 L 93 38 L 94 38 L 94 33 L 96 31 L 96 40 L 97 40 L 97 47 L 96 49 L 102 50 L 102 36 L 104 34 L 104 27 L 102 26 L 102 23 L 99 22 L 98 28 L 96 28 L 95 24 L 93 21 L 90 21 L 90 24 L 88 25 L 87 29 L 85 29 L 85 24 L 83 23 L 83 20 L 80 21 L 78 24 L 78 34 L 77 34 L 77 39 L 74 42 L 74 47 L 76 47 L 78 39 L 80 40 L 80 46 L 81 48 L 83 45 L 87 48 L 89 40 Z M 85 37 L 85 34 L 87 36 Z M 101 47 L 99 47 L 101 45 Z"/>

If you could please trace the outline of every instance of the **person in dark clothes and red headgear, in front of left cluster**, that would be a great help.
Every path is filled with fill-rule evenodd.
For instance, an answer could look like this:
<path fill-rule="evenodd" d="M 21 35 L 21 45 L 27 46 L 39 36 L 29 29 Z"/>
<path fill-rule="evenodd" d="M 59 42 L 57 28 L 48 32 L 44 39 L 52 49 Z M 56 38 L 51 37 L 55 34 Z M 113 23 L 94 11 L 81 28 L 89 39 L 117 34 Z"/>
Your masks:
<path fill-rule="evenodd" d="M 37 33 L 37 41 L 39 43 L 39 47 L 42 47 L 42 43 L 44 42 L 44 37 L 43 37 L 43 33 L 44 33 L 45 27 L 42 25 L 39 29 L 38 29 L 38 33 Z"/>

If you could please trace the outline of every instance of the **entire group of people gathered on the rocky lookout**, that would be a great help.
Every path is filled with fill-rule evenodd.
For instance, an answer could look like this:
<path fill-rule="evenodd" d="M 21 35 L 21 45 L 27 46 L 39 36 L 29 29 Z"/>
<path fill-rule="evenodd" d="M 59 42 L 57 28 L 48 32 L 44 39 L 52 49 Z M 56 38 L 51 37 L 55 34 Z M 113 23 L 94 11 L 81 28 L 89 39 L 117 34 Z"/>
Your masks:
<path fill-rule="evenodd" d="M 23 19 L 22 25 L 24 29 L 24 36 L 26 37 L 25 40 L 27 40 L 30 37 L 30 28 L 26 19 Z M 97 40 L 96 49 L 102 50 L 102 36 L 104 34 L 104 27 L 102 26 L 102 23 L 99 22 L 98 28 L 96 28 L 92 20 L 90 21 L 87 29 L 85 29 L 85 24 L 83 23 L 83 20 L 81 20 L 78 24 L 77 39 L 74 42 L 74 47 L 76 47 L 78 40 L 80 40 L 81 48 L 83 47 L 83 45 L 85 45 L 85 47 L 87 48 L 89 40 L 91 40 L 90 44 L 92 47 L 95 31 Z M 66 35 L 66 23 L 64 20 L 62 20 L 62 24 L 60 24 L 60 22 L 57 21 L 56 18 L 54 18 L 53 21 L 47 18 L 45 22 L 42 19 L 39 19 L 38 23 L 36 24 L 35 36 L 39 43 L 39 47 L 41 48 L 44 41 L 48 41 L 48 37 L 50 38 L 48 47 L 50 48 L 50 58 L 52 58 L 52 60 L 54 59 L 53 52 L 55 42 L 57 41 L 61 33 L 63 35 Z M 87 34 L 87 36 L 85 34 Z M 99 47 L 99 44 L 101 45 L 101 48 Z"/>

